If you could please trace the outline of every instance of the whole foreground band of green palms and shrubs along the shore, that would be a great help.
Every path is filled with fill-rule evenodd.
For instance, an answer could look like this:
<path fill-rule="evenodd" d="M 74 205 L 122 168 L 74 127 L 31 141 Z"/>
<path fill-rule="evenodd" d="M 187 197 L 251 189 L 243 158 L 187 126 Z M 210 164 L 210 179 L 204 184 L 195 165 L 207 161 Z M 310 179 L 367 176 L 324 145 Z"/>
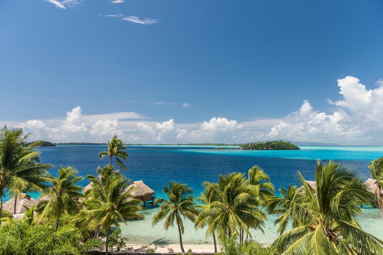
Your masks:
<path fill-rule="evenodd" d="M 144 218 L 141 200 L 133 198 L 131 181 L 123 171 L 128 153 L 117 136 L 108 141 L 108 150 L 99 153 L 107 157 L 104 167 L 87 175 L 90 188 L 78 183 L 73 166 L 59 167 L 49 174 L 50 164 L 39 162 L 41 145 L 35 141 L 25 146 L 30 134 L 20 128 L 0 129 L 0 198 L 11 203 L 0 209 L 0 254 L 92 254 L 100 251 L 121 251 L 126 245 L 118 231 L 110 227 L 128 224 L 127 218 Z M 115 158 L 121 171 L 115 169 Z M 295 255 L 295 254 L 383 254 L 383 241 L 363 231 L 357 220 L 360 205 L 376 205 L 382 211 L 383 158 L 368 166 L 373 188 L 349 166 L 318 160 L 315 181 L 307 181 L 297 172 L 298 186 L 280 187 L 280 197 L 270 176 L 259 166 L 247 172 L 218 175 L 215 182 L 203 182 L 200 196 L 193 196 L 187 184 L 169 182 L 165 197 L 155 200 L 159 211 L 152 225 L 162 223 L 165 230 L 177 231 L 182 253 L 185 221 L 203 229 L 206 238 L 213 239 L 215 253 L 220 255 Z M 26 206 L 23 215 L 13 213 L 13 203 L 29 192 L 41 195 L 36 205 Z M 263 247 L 251 236 L 250 229 L 265 229 L 268 215 L 275 215 L 278 238 Z M 139 229 L 134 229 L 139 231 Z M 217 243 L 220 249 L 217 247 Z M 134 251 L 137 253 L 140 251 Z M 147 253 L 154 249 L 147 247 Z"/>

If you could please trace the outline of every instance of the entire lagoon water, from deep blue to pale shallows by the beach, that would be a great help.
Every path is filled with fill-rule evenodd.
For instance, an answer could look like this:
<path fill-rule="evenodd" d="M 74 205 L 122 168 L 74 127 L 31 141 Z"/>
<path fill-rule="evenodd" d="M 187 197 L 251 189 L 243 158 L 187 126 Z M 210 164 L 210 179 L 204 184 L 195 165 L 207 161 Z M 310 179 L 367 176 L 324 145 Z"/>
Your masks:
<path fill-rule="evenodd" d="M 126 162 L 128 171 L 124 174 L 131 180 L 142 180 L 155 190 L 157 198 L 163 196 L 162 188 L 170 180 L 187 183 L 198 196 L 203 190 L 204 181 L 215 182 L 219 174 L 228 172 L 246 173 L 254 165 L 260 166 L 270 175 L 278 195 L 280 186 L 297 184 L 296 172 L 300 171 L 306 180 L 314 179 L 315 161 L 330 159 L 352 166 L 358 174 L 368 178 L 368 164 L 371 160 L 383 155 L 383 146 L 300 146 L 301 150 L 290 151 L 244 151 L 217 150 L 214 146 L 129 146 L 129 158 Z M 98 166 L 108 164 L 108 159 L 100 160 L 98 153 L 106 150 L 106 146 L 56 146 L 42 147 L 41 162 L 55 167 L 51 174 L 57 173 L 58 167 L 72 166 L 80 176 L 95 174 Z M 116 166 L 116 164 L 115 164 Z M 80 185 L 89 182 L 85 178 Z M 38 194 L 33 194 L 37 197 Z M 142 214 L 145 220 L 128 220 L 128 225 L 121 225 L 123 237 L 131 244 L 172 244 L 178 241 L 176 228 L 165 231 L 161 224 L 151 226 L 152 217 L 158 207 L 147 206 Z M 277 227 L 274 226 L 276 216 L 269 215 L 264 228 L 265 234 L 252 231 L 252 237 L 261 244 L 270 244 L 277 238 Z M 364 208 L 358 219 L 366 231 L 383 239 L 383 224 L 380 211 L 375 208 Z M 195 231 L 193 224 L 185 220 L 185 244 L 211 244 L 205 238 L 205 231 Z"/>

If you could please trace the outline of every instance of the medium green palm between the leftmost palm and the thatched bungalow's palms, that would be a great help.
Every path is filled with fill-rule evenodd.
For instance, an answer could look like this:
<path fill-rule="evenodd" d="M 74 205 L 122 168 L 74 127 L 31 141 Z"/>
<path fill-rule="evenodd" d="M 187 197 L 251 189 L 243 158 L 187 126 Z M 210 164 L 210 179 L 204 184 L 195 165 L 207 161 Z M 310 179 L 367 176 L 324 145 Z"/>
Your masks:
<path fill-rule="evenodd" d="M 59 227 L 60 216 L 64 213 L 75 215 L 79 213 L 79 199 L 83 197 L 82 187 L 78 186 L 83 177 L 76 176 L 77 170 L 68 166 L 60 166 L 58 177 L 48 174 L 51 187 L 47 188 L 40 197 L 48 197 L 39 203 L 41 218 L 56 218 L 56 229 Z"/>

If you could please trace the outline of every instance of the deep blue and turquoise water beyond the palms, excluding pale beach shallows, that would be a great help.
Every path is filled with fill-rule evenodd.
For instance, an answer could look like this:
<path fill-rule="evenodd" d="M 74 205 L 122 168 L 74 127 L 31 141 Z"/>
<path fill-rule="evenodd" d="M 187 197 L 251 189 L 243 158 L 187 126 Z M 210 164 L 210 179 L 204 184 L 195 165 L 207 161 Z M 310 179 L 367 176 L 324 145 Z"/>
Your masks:
<path fill-rule="evenodd" d="M 79 175 L 95 174 L 98 166 L 108 164 L 100 160 L 98 153 L 106 146 L 57 146 L 42 147 L 41 162 L 55 167 L 50 170 L 56 175 L 60 165 L 72 166 Z M 341 164 L 354 167 L 358 174 L 369 177 L 368 164 L 383 155 L 383 147 L 306 147 L 299 151 L 242 151 L 214 150 L 211 147 L 185 146 L 129 146 L 128 171 L 124 174 L 131 180 L 143 180 L 157 193 L 162 193 L 169 180 L 187 183 L 202 191 L 204 181 L 215 182 L 218 174 L 245 172 L 254 165 L 262 167 L 270 175 L 278 189 L 281 185 L 296 184 L 296 172 L 300 171 L 306 180 L 314 178 L 315 159 L 334 159 Z M 116 164 L 115 164 L 116 166 Z M 85 178 L 80 185 L 85 186 Z M 37 195 L 36 195 L 37 196 Z"/>

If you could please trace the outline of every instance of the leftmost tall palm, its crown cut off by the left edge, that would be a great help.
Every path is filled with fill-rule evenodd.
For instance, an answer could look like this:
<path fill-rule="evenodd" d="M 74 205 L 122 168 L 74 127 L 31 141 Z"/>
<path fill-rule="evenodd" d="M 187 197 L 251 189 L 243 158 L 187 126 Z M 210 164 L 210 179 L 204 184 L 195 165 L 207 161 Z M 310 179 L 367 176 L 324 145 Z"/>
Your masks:
<path fill-rule="evenodd" d="M 0 129 L 0 200 L 10 195 L 15 203 L 20 192 L 42 192 L 44 173 L 52 167 L 40 163 L 40 152 L 35 151 L 41 141 L 24 146 L 30 133 L 23 135 L 21 128 Z M 0 218 L 2 208 L 0 208 Z"/>

